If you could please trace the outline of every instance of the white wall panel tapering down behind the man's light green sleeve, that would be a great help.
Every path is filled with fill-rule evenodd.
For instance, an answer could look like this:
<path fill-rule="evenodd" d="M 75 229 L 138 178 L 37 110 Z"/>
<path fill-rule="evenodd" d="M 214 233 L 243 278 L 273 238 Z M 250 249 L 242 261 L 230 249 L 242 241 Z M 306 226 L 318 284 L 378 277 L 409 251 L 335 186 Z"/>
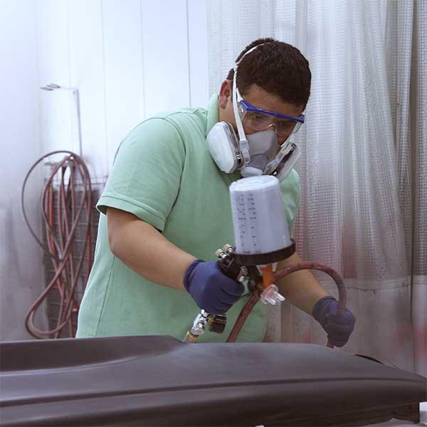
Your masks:
<path fill-rule="evenodd" d="M 140 0 L 102 0 L 107 163 L 120 141 L 144 119 Z"/>

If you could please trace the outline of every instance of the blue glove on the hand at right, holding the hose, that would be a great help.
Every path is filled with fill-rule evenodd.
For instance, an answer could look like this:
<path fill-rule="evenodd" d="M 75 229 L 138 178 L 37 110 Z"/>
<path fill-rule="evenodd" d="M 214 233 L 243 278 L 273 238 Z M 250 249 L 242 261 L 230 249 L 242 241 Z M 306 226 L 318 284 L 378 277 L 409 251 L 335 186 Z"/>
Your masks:
<path fill-rule="evenodd" d="M 334 297 L 320 298 L 313 307 L 312 315 L 327 332 L 327 339 L 331 344 L 342 347 L 349 340 L 356 317 L 347 308 L 342 315 L 339 315 L 338 301 Z"/>

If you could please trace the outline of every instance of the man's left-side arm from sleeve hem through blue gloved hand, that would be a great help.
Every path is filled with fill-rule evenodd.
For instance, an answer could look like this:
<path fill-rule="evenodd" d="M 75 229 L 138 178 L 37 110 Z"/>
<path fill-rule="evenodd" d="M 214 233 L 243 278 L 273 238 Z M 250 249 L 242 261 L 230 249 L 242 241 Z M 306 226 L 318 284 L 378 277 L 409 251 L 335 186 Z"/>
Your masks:
<path fill-rule="evenodd" d="M 197 260 L 154 227 L 128 212 L 107 209 L 112 253 L 150 282 L 186 290 L 200 308 L 217 315 L 241 297 L 244 288 L 221 272 L 216 261 Z"/>

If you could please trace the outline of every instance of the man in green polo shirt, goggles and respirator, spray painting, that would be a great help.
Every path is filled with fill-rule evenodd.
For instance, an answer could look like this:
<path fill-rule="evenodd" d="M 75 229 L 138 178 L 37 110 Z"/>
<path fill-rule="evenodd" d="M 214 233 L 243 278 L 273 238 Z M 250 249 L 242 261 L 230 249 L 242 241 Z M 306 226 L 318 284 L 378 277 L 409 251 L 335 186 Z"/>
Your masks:
<path fill-rule="evenodd" d="M 227 312 L 228 324 L 223 334 L 207 331 L 199 342 L 228 337 L 249 298 L 243 285 L 223 275 L 215 261 L 216 249 L 234 240 L 228 187 L 242 175 L 265 172 L 268 155 L 288 144 L 303 121 L 311 80 L 300 51 L 271 38 L 247 46 L 237 64 L 234 88 L 239 98 L 235 95 L 234 102 L 231 70 L 208 110 L 154 116 L 120 144 L 97 204 L 102 215 L 78 337 L 167 334 L 184 339 L 201 308 L 211 314 Z M 227 172 L 211 149 L 213 128 L 221 122 L 232 130 L 242 123 L 252 153 L 250 163 L 245 160 Z M 275 147 L 269 147 L 270 154 L 253 155 L 251 135 L 265 130 L 274 131 L 268 135 L 273 135 Z M 244 147 L 239 149 L 244 152 Z M 282 178 L 292 229 L 299 178 L 293 169 Z M 295 253 L 278 268 L 299 261 Z M 292 273 L 277 285 L 288 302 L 320 322 L 332 344 L 347 342 L 354 316 L 349 310 L 337 315 L 337 301 L 309 271 Z M 261 342 L 264 334 L 265 306 L 258 302 L 237 341 Z"/>

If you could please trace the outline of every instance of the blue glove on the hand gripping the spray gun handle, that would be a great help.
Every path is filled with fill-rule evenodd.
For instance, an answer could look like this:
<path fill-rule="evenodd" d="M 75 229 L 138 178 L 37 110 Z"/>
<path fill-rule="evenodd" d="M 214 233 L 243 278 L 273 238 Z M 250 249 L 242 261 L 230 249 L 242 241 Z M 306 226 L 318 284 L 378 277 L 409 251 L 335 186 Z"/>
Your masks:
<path fill-rule="evenodd" d="M 241 283 L 228 278 L 216 261 L 193 261 L 184 275 L 184 286 L 200 308 L 211 315 L 225 313 L 243 294 Z"/>

